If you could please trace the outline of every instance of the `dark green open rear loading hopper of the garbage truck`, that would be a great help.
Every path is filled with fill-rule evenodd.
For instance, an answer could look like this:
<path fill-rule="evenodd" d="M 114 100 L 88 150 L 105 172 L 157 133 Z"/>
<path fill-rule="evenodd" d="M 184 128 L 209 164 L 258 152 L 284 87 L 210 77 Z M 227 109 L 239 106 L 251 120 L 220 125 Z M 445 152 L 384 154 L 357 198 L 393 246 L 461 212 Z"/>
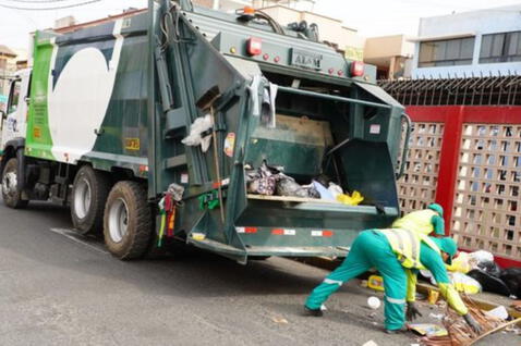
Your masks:
<path fill-rule="evenodd" d="M 172 15 L 163 15 L 161 25 L 172 25 L 167 32 L 179 36 L 166 49 L 156 49 L 159 73 L 154 85 L 168 85 L 160 99 L 173 101 L 155 112 L 160 150 L 149 193 L 160 195 L 171 183 L 185 186 L 175 236 L 240 262 L 266 256 L 336 257 L 346 254 L 360 231 L 387 226 L 398 217 L 397 157 L 407 116 L 367 82 L 371 77 L 334 77 L 323 69 L 292 64 L 295 50 L 307 48 L 322 55 L 322 63 L 349 70 L 351 62 L 322 44 L 238 22 L 217 26 L 204 11 L 163 11 Z M 266 47 L 262 53 L 278 57 L 278 62 L 249 54 L 252 37 Z M 208 99 L 206 110 L 193 106 Z M 182 115 L 189 108 L 192 118 Z M 181 139 L 205 113 L 211 113 L 215 125 L 203 136 L 210 139 L 215 129 L 215 141 L 210 139 L 206 151 L 184 146 Z M 175 122 L 177 128 L 168 128 Z M 177 137 L 165 136 L 178 128 Z M 160 163 L 177 158 L 161 157 L 161 151 L 184 160 L 163 170 Z M 360 191 L 364 200 L 348 206 L 277 190 L 252 191 L 251 172 L 263 164 L 301 185 L 326 175 L 346 193 Z"/>

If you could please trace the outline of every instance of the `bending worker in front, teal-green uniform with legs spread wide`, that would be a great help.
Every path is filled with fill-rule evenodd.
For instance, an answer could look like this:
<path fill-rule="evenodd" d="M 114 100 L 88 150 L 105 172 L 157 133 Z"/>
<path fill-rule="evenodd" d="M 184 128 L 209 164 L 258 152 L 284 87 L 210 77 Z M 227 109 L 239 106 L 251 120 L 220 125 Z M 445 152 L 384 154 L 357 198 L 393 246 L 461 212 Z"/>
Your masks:
<path fill-rule="evenodd" d="M 363 231 L 340 267 L 313 289 L 305 302 L 305 311 L 320 317 L 323 302 L 344 282 L 376 268 L 384 277 L 386 332 L 396 333 L 403 330 L 405 323 L 405 298 L 408 319 L 420 314 L 414 305 L 416 274 L 419 269 L 426 268 L 433 273 L 449 306 L 478 333 L 480 324 L 469 313 L 445 268 L 443 257 L 451 258 L 456 251 L 455 240 L 448 237 L 428 237 L 400 228 Z"/>

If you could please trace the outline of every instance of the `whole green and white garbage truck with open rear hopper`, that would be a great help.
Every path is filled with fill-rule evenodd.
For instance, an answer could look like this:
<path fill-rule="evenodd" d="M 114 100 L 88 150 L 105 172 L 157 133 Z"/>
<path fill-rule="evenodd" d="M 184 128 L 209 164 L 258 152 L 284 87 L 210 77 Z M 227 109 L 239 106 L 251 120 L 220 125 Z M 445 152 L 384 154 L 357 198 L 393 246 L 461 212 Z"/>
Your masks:
<path fill-rule="evenodd" d="M 122 260 L 181 242 L 240 263 L 341 257 L 399 215 L 410 121 L 313 23 L 150 0 L 33 41 L 2 113 L 10 208 L 69 206 Z"/>

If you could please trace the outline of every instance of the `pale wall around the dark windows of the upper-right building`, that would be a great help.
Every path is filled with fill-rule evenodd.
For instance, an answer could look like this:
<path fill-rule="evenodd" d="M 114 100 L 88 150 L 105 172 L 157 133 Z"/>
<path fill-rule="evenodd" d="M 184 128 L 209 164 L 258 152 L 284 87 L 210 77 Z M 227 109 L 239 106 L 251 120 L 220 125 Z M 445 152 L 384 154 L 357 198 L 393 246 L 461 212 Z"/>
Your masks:
<path fill-rule="evenodd" d="M 521 4 L 433 16 L 420 20 L 419 39 L 450 35 L 475 35 L 472 64 L 457 66 L 417 67 L 420 42 L 415 45 L 413 78 L 421 77 L 463 77 L 474 75 L 521 74 L 520 62 L 501 62 L 480 64 L 482 36 L 486 34 L 521 30 Z M 425 39 L 424 39 L 425 40 Z"/>

